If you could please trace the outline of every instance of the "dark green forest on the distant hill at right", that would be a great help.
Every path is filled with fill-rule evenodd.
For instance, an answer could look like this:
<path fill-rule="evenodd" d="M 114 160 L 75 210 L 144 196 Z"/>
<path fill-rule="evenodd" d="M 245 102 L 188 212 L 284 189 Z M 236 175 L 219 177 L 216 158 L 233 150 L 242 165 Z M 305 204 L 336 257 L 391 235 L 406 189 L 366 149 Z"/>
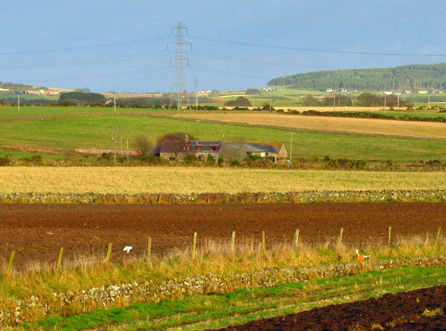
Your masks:
<path fill-rule="evenodd" d="M 396 68 L 318 71 L 279 77 L 268 86 L 292 85 L 297 89 L 357 89 L 362 91 L 446 90 L 446 63 L 402 65 Z"/>

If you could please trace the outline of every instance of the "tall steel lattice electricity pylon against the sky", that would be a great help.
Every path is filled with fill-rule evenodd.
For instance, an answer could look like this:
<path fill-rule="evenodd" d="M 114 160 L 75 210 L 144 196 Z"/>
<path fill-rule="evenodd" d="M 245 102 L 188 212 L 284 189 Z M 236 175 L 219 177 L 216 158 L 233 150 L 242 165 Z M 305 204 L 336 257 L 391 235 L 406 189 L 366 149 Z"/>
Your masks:
<path fill-rule="evenodd" d="M 176 109 L 183 108 L 183 104 L 186 104 L 189 108 L 191 107 L 189 102 L 188 93 L 186 92 L 186 66 L 189 66 L 189 59 L 184 56 L 184 45 L 190 46 L 188 51 L 192 50 L 192 44 L 186 42 L 183 39 L 183 30 L 188 34 L 187 27 L 178 23 L 171 28 L 171 33 L 173 34 L 176 30 L 176 38 L 174 41 L 167 44 L 167 50 L 169 50 L 169 44 L 175 44 L 175 56 L 170 59 L 171 67 L 175 68 L 174 73 L 174 89 L 170 96 L 169 108 L 172 104 L 176 104 Z"/>

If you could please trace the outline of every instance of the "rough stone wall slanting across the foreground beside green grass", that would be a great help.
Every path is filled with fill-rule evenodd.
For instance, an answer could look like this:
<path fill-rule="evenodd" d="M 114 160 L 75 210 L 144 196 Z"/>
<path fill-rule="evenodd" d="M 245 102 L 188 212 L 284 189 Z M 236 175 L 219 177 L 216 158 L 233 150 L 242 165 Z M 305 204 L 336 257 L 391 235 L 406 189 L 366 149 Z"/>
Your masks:
<path fill-rule="evenodd" d="M 92 287 L 78 292 L 54 293 L 51 301 L 32 295 L 18 300 L 9 309 L 0 311 L 0 327 L 19 325 L 28 318 L 44 319 L 60 313 L 88 313 L 99 308 L 126 306 L 137 302 L 157 303 L 161 300 L 183 299 L 185 296 L 221 294 L 241 288 L 274 287 L 294 282 L 306 282 L 328 277 L 344 277 L 371 270 L 401 268 L 402 266 L 446 266 L 446 256 L 412 257 L 398 260 L 368 261 L 337 265 L 308 266 L 304 268 L 267 269 L 235 275 L 197 275 L 163 281 L 129 282 Z M 78 307 L 78 310 L 73 307 Z M 82 307 L 83 311 L 79 311 Z"/>

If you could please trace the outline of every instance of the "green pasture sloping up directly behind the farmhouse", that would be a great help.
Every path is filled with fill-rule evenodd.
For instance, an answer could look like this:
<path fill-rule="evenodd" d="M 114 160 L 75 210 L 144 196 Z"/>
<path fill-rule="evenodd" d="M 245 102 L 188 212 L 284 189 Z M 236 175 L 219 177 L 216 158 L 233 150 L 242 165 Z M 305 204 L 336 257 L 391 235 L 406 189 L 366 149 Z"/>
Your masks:
<path fill-rule="evenodd" d="M 92 108 L 94 109 L 94 108 Z M 230 141 L 284 142 L 289 150 L 290 131 L 249 125 L 204 123 L 198 120 L 149 118 L 131 115 L 91 115 L 46 120 L 0 121 L 0 146 L 45 146 L 62 148 L 112 149 L 111 137 L 118 142 L 133 141 L 136 135 L 146 135 L 153 142 L 169 132 L 188 132 L 199 139 Z M 119 144 L 117 146 L 120 147 Z M 446 142 L 335 135 L 316 132 L 295 132 L 293 158 L 324 156 L 380 161 L 420 161 L 444 159 Z"/>

